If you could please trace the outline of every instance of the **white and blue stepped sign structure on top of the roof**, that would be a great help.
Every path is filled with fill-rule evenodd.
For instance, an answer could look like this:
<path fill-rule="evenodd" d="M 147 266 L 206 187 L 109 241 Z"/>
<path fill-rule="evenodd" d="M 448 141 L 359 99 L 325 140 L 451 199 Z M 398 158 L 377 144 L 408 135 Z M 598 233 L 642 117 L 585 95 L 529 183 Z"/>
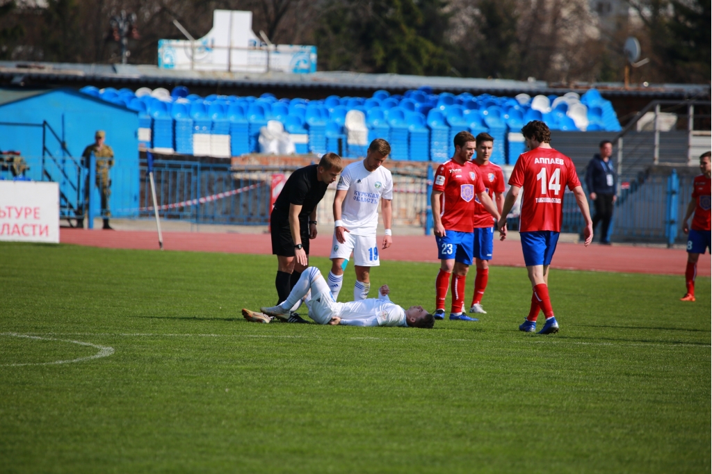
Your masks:
<path fill-rule="evenodd" d="M 159 40 L 158 67 L 245 73 L 315 73 L 316 46 L 266 43 L 252 31 L 251 11 L 215 10 L 213 29 L 203 38 Z"/>

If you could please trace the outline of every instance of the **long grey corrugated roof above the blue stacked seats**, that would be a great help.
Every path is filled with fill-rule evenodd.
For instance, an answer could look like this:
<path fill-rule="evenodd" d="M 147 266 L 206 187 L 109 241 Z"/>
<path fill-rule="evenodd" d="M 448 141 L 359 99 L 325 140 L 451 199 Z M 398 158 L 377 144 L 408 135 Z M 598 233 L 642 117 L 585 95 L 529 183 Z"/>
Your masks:
<path fill-rule="evenodd" d="M 53 80 L 81 84 L 110 82 L 119 85 L 158 86 L 167 83 L 224 87 L 286 87 L 295 89 L 407 90 L 429 85 L 436 91 L 453 93 L 557 94 L 599 88 L 607 97 L 708 98 L 708 84 L 653 84 L 645 88 L 624 89 L 622 83 L 548 84 L 545 81 L 508 79 L 446 78 L 400 74 L 365 74 L 323 71 L 313 74 L 228 73 L 226 71 L 159 69 L 155 65 L 17 63 L 0 61 L 0 79 L 30 78 L 51 83 Z"/>

